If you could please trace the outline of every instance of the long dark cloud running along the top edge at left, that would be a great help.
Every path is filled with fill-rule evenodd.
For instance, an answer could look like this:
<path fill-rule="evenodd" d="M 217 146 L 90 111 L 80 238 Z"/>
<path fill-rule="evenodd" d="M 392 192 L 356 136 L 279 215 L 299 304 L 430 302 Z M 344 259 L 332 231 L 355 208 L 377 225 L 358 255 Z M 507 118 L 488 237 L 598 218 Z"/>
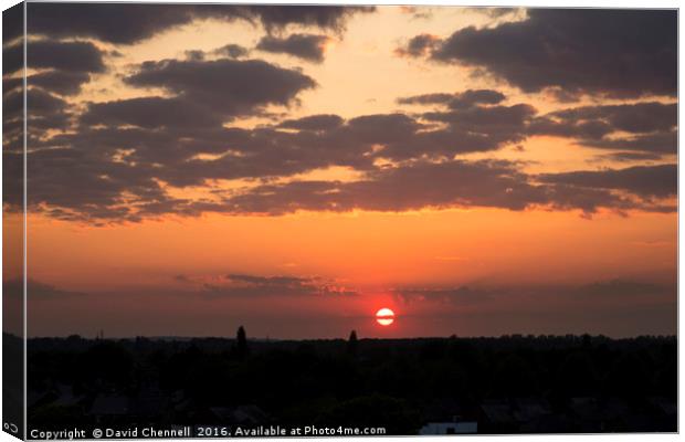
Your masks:
<path fill-rule="evenodd" d="M 59 38 L 94 38 L 134 44 L 196 19 L 249 20 L 272 31 L 289 24 L 342 31 L 355 13 L 368 7 L 33 3 L 29 33 Z"/>

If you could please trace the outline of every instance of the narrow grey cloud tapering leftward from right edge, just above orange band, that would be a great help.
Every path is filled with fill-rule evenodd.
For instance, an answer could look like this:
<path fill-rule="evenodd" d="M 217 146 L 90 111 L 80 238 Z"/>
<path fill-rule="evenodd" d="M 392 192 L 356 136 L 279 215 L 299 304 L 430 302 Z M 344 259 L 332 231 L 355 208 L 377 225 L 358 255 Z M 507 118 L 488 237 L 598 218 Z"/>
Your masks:
<path fill-rule="evenodd" d="M 623 190 L 641 197 L 664 198 L 677 193 L 677 166 L 635 166 L 626 169 L 546 173 L 542 182 L 592 189 Z"/>

